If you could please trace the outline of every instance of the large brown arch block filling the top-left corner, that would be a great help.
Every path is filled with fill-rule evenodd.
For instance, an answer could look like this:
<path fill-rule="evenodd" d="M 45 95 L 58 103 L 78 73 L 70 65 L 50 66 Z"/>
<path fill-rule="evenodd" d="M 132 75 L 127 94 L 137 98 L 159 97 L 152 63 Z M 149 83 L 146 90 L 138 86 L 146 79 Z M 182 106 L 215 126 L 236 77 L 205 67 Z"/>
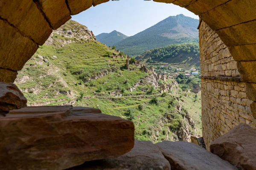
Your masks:
<path fill-rule="evenodd" d="M 43 45 L 52 33 L 51 27 L 32 0 L 1 0 L 0 16 L 39 45 Z"/>

